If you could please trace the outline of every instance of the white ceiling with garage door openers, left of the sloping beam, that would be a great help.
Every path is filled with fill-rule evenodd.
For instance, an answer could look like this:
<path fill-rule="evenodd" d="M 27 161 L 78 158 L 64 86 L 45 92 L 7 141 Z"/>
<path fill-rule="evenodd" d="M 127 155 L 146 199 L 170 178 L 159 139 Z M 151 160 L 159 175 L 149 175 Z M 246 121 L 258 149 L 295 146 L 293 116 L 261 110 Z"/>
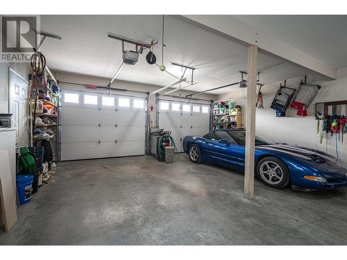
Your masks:
<path fill-rule="evenodd" d="M 161 60 L 160 15 L 43 15 L 41 29 L 62 37 L 62 40 L 47 38 L 42 46 L 50 69 L 111 78 L 121 64 L 121 42 L 108 38 L 108 33 L 142 42 L 158 40 L 154 53 L 158 62 Z M 198 84 L 187 90 L 202 91 L 235 83 L 240 80 L 238 71 L 246 70 L 246 46 L 167 16 L 164 44 L 167 46 L 164 49 L 164 64 L 168 71 L 180 76 L 180 69 L 172 66 L 171 62 L 196 67 L 194 80 Z M 133 48 L 126 45 L 126 49 Z M 160 86 L 176 81 L 159 71 L 157 66 L 147 64 L 145 55 L 146 52 L 140 55 L 135 66 L 125 65 L 117 79 Z M 273 64 L 279 65 L 271 67 Z M 271 68 L 264 69 L 266 67 Z M 264 69 L 260 75 L 262 83 L 310 73 L 264 53 L 258 57 L 258 68 Z M 211 93 L 220 94 L 229 90 L 225 88 Z"/>

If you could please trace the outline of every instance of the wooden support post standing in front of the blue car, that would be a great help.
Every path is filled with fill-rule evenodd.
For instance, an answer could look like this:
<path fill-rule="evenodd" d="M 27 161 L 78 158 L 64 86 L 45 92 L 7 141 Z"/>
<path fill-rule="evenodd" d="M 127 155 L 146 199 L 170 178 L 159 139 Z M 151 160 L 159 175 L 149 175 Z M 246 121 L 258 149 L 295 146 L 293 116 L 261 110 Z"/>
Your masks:
<path fill-rule="evenodd" d="M 244 169 L 244 197 L 251 200 L 254 193 L 255 99 L 257 96 L 257 46 L 248 47 L 246 157 Z"/>

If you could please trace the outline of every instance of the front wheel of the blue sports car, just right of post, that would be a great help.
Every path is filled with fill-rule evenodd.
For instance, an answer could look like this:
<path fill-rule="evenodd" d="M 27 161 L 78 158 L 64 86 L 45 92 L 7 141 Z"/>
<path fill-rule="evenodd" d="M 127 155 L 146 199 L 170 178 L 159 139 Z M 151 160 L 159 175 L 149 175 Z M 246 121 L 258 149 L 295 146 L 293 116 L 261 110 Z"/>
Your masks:
<path fill-rule="evenodd" d="M 276 157 L 260 159 L 257 163 L 257 176 L 269 187 L 280 189 L 289 184 L 288 168 Z"/>

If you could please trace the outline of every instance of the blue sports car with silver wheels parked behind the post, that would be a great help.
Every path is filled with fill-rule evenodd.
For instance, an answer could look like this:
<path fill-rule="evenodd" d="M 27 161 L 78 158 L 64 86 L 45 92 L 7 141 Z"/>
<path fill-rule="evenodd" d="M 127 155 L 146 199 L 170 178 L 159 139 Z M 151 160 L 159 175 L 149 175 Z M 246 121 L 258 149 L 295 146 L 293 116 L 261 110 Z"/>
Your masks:
<path fill-rule="evenodd" d="M 183 148 L 194 163 L 210 162 L 244 172 L 246 131 L 213 130 L 203 137 L 187 136 Z M 255 137 L 255 173 L 264 184 L 294 189 L 336 189 L 347 186 L 344 162 L 320 150 L 273 144 Z"/>

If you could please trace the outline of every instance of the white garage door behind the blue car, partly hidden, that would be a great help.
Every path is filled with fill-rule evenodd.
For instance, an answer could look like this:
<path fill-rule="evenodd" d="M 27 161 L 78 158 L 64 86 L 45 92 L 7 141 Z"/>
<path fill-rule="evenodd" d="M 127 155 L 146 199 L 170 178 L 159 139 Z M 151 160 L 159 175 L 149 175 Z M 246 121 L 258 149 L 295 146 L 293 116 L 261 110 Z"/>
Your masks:
<path fill-rule="evenodd" d="M 210 130 L 210 106 L 174 101 L 159 101 L 159 127 L 171 131 L 178 152 L 187 135 L 206 135 Z"/>

